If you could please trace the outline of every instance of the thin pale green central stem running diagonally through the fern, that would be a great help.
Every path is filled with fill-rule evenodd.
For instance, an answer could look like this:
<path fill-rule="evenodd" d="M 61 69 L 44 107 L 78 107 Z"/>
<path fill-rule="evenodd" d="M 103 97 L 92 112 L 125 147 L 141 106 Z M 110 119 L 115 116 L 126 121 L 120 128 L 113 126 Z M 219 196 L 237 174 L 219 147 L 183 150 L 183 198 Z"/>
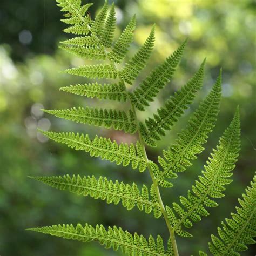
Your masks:
<path fill-rule="evenodd" d="M 68 1 L 67 1 L 68 2 Z M 68 2 L 69 5 L 71 6 L 71 8 L 77 13 L 77 15 L 79 16 L 79 18 L 81 19 L 81 21 L 87 26 L 87 28 L 89 29 L 89 31 L 91 32 L 92 36 L 96 39 L 97 43 L 102 46 L 102 50 L 104 51 L 107 59 L 110 61 L 111 65 L 113 66 L 114 70 L 116 70 L 117 72 L 117 75 L 118 75 L 118 78 L 120 79 L 120 82 L 123 83 L 123 85 L 125 85 L 125 82 L 124 80 L 119 76 L 119 72 L 118 72 L 118 69 L 117 69 L 117 66 L 114 64 L 114 62 L 109 58 L 109 52 L 106 50 L 105 46 L 103 46 L 101 43 L 100 43 L 100 40 L 98 38 L 98 36 L 92 31 L 91 29 L 91 26 L 89 24 L 87 24 L 85 22 L 85 19 L 82 15 L 79 14 L 79 12 L 76 10 L 76 8 L 70 3 Z M 125 86 L 126 88 L 126 86 Z M 144 158 L 145 158 L 145 161 L 146 161 L 146 165 L 147 165 L 147 168 L 149 169 L 149 173 L 150 173 L 150 177 L 152 179 L 152 182 L 153 182 L 153 185 L 154 185 L 154 188 L 156 190 L 156 194 L 157 194 L 157 198 L 158 198 L 158 202 L 159 202 L 159 206 L 161 208 L 161 212 L 164 216 L 164 219 L 165 219 L 165 222 L 166 222 L 166 225 L 167 225 L 167 228 L 169 230 L 169 233 L 170 233 L 170 237 L 171 237 L 171 241 L 172 241 L 172 246 L 173 246 L 173 252 L 174 252 L 174 255 L 175 256 L 179 256 L 179 252 L 178 252 L 178 248 L 177 248 L 177 243 L 176 243 L 176 239 L 175 239 L 175 234 L 174 234 L 174 230 L 173 230 L 173 227 L 168 219 L 168 216 L 167 216 L 167 213 L 166 213 L 166 210 L 165 210 L 165 207 L 164 207 L 164 204 L 163 204 L 163 200 L 161 198 L 161 194 L 160 194 L 160 191 L 159 191 L 159 187 L 158 187 L 158 182 L 157 182 L 157 179 L 156 177 L 154 176 L 154 173 L 151 169 L 151 166 L 149 164 L 149 159 L 147 158 L 147 153 L 146 153 L 146 149 L 145 149 L 145 142 L 142 138 L 142 134 L 140 133 L 140 130 L 139 130 L 139 121 L 138 121 L 138 117 L 137 117 L 137 113 L 136 113 L 136 110 L 135 110 L 135 107 L 134 105 L 132 104 L 131 102 L 131 99 L 129 97 L 129 94 L 127 92 L 127 88 L 126 88 L 126 93 L 127 93 L 127 98 L 129 99 L 129 102 L 130 102 L 130 105 L 131 105 L 131 109 L 132 109 L 132 112 L 134 114 L 134 119 L 136 121 L 136 125 L 137 125 L 137 130 L 138 130 L 138 135 L 139 135 L 139 142 L 140 144 L 142 145 L 142 149 L 143 149 L 143 155 L 144 155 Z"/>

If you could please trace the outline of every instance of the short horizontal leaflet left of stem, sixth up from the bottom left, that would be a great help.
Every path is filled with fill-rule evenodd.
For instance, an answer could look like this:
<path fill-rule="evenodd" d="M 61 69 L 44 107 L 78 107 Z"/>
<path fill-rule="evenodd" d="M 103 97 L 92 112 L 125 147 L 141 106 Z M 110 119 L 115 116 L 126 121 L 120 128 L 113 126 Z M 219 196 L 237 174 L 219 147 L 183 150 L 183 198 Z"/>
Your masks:
<path fill-rule="evenodd" d="M 117 78 L 117 72 L 110 64 L 79 66 L 66 69 L 65 73 L 88 78 Z"/>

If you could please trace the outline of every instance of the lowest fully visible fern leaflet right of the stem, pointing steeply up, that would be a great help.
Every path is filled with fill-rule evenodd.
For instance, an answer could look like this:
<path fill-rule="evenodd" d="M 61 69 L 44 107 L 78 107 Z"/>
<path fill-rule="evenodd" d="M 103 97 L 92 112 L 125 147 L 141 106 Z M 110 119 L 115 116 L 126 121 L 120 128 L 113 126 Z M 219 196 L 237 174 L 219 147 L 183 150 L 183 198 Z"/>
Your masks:
<path fill-rule="evenodd" d="M 232 182 L 228 179 L 233 175 L 234 164 L 237 161 L 240 150 L 240 121 L 239 110 L 235 112 L 230 126 L 220 137 L 217 149 L 213 150 L 211 158 L 207 161 L 203 176 L 192 186 L 192 191 L 188 191 L 187 198 L 180 196 L 180 203 L 173 203 L 173 210 L 169 208 L 169 219 L 177 234 L 188 236 L 187 231 L 181 230 L 181 224 L 190 228 L 192 221 L 201 220 L 201 216 L 208 216 L 205 207 L 215 207 L 218 204 L 211 198 L 224 197 L 222 193 L 225 185 Z M 177 213 L 178 218 L 176 217 Z"/>

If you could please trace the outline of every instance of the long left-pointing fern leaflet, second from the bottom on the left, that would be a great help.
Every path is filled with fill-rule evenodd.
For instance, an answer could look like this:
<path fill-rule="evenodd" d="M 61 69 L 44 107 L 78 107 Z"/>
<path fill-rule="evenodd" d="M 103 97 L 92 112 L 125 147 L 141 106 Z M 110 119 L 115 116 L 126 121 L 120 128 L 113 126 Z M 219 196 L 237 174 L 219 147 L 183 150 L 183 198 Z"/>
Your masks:
<path fill-rule="evenodd" d="M 107 204 L 117 205 L 122 201 L 122 205 L 127 210 L 132 210 L 135 206 L 140 211 L 151 213 L 152 210 L 156 212 L 155 217 L 159 218 L 160 207 L 155 197 L 155 193 L 149 196 L 148 188 L 143 185 L 142 190 L 139 191 L 138 186 L 133 183 L 132 185 L 119 183 L 116 180 L 114 183 L 112 180 L 108 180 L 106 177 L 84 176 L 81 178 L 79 175 L 76 177 L 73 175 L 55 176 L 55 177 L 30 177 L 35 180 L 41 181 L 51 187 L 59 190 L 68 190 L 72 193 L 76 193 L 79 196 L 89 196 L 95 199 L 106 200 Z M 161 211 L 160 211 L 161 213 Z"/>

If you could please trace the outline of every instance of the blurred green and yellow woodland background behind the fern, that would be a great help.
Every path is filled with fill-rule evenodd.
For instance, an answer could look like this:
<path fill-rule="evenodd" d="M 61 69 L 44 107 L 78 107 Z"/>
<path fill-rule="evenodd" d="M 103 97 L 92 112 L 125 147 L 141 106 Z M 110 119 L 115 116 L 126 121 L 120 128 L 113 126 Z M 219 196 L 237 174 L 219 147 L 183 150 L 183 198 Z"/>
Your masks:
<path fill-rule="evenodd" d="M 103 4 L 92 0 L 91 15 Z M 109 1 L 110 3 L 112 1 Z M 226 189 L 226 197 L 218 200 L 211 215 L 194 225 L 191 239 L 177 238 L 180 255 L 197 255 L 207 250 L 210 234 L 216 232 L 220 220 L 234 211 L 237 198 L 245 190 L 255 171 L 255 1 L 173 1 L 119 0 L 116 3 L 118 29 L 116 38 L 129 18 L 137 14 L 135 40 L 131 57 L 141 45 L 153 23 L 156 23 L 156 46 L 149 65 L 137 84 L 150 70 L 189 38 L 184 57 L 168 86 L 157 100 L 140 115 L 150 116 L 163 101 L 178 90 L 207 57 L 204 87 L 197 93 L 172 132 L 156 149 L 147 149 L 155 160 L 177 136 L 190 113 L 211 89 L 220 67 L 223 68 L 223 99 L 217 126 L 211 133 L 206 150 L 192 167 L 174 180 L 175 186 L 162 190 L 164 201 L 171 204 L 188 188 L 203 168 L 221 133 L 230 122 L 235 107 L 240 105 L 241 153 L 234 172 L 234 181 Z M 137 208 L 127 212 L 120 205 L 78 197 L 66 191 L 54 190 L 27 178 L 59 174 L 94 174 L 138 184 L 150 184 L 149 173 L 117 166 L 65 145 L 48 142 L 37 127 L 54 131 L 79 131 L 103 134 L 111 139 L 134 140 L 122 132 L 100 130 L 43 114 L 40 109 L 60 109 L 72 106 L 121 107 L 114 102 L 101 102 L 68 95 L 58 90 L 86 79 L 60 73 L 65 68 L 86 63 L 86 60 L 58 50 L 58 41 L 67 37 L 55 1 L 1 1 L 0 9 L 0 254 L 1 256 L 33 255 L 122 255 L 106 251 L 98 244 L 83 244 L 48 235 L 24 231 L 25 228 L 58 223 L 90 223 L 122 226 L 130 232 L 144 235 L 161 234 L 167 238 L 163 219 L 154 219 Z M 126 59 L 126 60 L 127 60 Z M 116 104 L 116 105 L 113 105 Z M 254 255 L 253 248 L 242 255 Z"/>

